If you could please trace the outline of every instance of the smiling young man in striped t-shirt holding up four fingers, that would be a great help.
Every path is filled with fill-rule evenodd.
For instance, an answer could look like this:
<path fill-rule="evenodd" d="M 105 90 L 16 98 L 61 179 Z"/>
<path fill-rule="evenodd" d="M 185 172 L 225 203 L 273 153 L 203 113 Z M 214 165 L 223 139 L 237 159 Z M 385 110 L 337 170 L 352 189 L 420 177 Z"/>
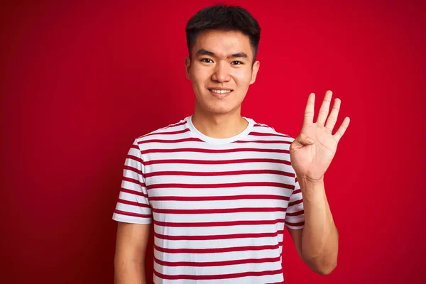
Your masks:
<path fill-rule="evenodd" d="M 186 31 L 195 110 L 131 146 L 113 215 L 116 283 L 145 283 L 151 222 L 156 284 L 283 283 L 285 226 L 307 266 L 331 273 L 338 234 L 324 173 L 349 125 L 332 135 L 339 99 L 324 126 L 332 92 L 315 123 L 310 94 L 300 136 L 277 133 L 241 117 L 260 65 L 258 22 L 240 7 L 212 6 Z"/>

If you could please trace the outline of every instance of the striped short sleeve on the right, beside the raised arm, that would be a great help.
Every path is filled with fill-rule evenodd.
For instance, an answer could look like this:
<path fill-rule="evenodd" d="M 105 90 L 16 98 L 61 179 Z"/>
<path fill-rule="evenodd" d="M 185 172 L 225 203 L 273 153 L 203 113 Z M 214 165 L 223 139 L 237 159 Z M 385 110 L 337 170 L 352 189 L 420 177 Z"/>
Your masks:
<path fill-rule="evenodd" d="M 305 226 L 305 212 L 303 211 L 302 191 L 295 177 L 295 189 L 290 195 L 287 212 L 285 214 L 285 226 L 288 229 L 303 229 Z"/>

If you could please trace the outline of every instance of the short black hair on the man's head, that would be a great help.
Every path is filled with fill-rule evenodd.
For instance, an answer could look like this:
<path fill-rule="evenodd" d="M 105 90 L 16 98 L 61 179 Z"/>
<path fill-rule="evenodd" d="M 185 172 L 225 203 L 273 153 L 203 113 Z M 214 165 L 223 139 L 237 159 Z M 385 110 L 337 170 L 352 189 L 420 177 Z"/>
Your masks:
<path fill-rule="evenodd" d="M 253 62 L 256 60 L 261 27 L 246 9 L 240 6 L 216 4 L 198 11 L 186 26 L 188 52 L 191 58 L 191 49 L 195 45 L 197 35 L 206 30 L 217 29 L 224 31 L 240 31 L 250 38 L 253 50 Z"/>

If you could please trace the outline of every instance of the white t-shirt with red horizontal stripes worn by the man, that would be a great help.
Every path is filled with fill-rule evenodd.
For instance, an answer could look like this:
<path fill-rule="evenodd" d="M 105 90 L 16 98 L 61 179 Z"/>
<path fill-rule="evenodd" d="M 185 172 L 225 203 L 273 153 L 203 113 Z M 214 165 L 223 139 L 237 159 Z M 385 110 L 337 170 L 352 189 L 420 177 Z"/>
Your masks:
<path fill-rule="evenodd" d="M 245 119 L 231 138 L 189 116 L 133 142 L 113 219 L 154 223 L 155 284 L 283 282 L 284 226 L 305 221 L 294 138 Z"/>

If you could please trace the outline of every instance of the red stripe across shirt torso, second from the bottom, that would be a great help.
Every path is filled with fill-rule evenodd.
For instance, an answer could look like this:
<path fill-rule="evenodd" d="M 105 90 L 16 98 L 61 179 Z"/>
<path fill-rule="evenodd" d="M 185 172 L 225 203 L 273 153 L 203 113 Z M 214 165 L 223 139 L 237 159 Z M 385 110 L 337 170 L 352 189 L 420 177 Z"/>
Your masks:
<path fill-rule="evenodd" d="M 280 257 L 274 258 L 248 258 L 248 259 L 237 259 L 233 261 L 209 261 L 209 262 L 195 262 L 195 261 L 161 261 L 155 258 L 154 261 L 160 266 L 192 266 L 192 267 L 209 267 L 209 266 L 234 266 L 246 263 L 271 263 L 280 261 Z"/>

